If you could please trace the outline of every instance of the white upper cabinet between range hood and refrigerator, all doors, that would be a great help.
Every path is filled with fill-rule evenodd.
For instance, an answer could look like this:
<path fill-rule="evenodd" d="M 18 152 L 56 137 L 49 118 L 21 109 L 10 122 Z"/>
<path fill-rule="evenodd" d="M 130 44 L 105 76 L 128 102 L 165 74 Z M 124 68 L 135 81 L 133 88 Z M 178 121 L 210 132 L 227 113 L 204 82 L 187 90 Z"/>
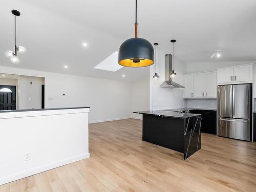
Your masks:
<path fill-rule="evenodd" d="M 184 75 L 184 98 L 217 98 L 217 72 Z"/>

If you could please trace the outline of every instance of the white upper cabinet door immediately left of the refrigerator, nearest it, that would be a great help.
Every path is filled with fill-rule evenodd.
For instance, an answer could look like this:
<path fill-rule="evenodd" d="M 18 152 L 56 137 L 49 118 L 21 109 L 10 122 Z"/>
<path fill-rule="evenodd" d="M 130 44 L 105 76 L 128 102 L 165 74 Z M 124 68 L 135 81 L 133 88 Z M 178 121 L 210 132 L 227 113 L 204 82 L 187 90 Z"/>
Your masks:
<path fill-rule="evenodd" d="M 205 97 L 217 98 L 217 72 L 205 73 Z"/>

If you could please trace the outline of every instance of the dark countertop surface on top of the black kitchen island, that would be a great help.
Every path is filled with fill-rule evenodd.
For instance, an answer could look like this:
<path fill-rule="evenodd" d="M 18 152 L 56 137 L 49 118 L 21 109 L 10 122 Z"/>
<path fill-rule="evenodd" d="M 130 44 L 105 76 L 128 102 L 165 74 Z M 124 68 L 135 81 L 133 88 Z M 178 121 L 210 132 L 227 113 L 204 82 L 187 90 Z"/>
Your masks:
<path fill-rule="evenodd" d="M 195 117 L 200 115 L 200 114 L 193 114 L 193 113 L 177 113 L 173 111 L 164 111 L 164 110 L 139 111 L 139 112 L 133 112 L 133 113 L 154 115 L 154 116 L 161 116 L 161 117 L 173 117 L 173 118 L 179 118 L 179 119 L 185 119 L 185 118 Z"/>

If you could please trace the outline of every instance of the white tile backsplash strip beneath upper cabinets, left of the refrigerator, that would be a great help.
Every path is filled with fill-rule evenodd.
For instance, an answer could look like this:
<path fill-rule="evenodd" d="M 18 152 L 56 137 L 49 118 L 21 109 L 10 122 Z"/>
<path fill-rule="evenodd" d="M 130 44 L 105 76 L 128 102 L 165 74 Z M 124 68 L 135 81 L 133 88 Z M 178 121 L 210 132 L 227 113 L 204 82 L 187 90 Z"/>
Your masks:
<path fill-rule="evenodd" d="M 186 99 L 187 108 L 217 109 L 217 99 Z"/>

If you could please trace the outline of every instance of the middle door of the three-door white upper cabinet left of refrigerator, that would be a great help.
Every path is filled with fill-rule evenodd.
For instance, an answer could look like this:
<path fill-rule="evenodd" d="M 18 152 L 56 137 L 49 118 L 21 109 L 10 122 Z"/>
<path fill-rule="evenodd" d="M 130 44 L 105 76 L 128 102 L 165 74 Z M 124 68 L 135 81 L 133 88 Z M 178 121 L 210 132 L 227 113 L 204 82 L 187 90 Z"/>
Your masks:
<path fill-rule="evenodd" d="M 205 98 L 205 73 L 194 74 L 194 98 Z"/>

